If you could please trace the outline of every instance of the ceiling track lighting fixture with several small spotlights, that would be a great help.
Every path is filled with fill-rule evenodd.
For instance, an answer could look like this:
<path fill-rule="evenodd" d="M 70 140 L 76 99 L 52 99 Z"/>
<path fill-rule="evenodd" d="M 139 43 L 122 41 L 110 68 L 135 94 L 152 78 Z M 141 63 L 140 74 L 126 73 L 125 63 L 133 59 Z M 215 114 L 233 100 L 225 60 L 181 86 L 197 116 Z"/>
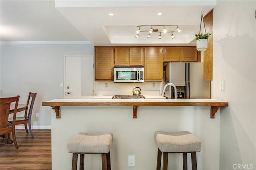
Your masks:
<path fill-rule="evenodd" d="M 158 32 L 158 33 L 160 33 L 158 36 L 158 39 L 160 39 L 160 40 L 162 39 L 161 33 L 171 33 L 171 38 L 173 39 L 173 38 L 175 38 L 175 36 L 173 34 L 175 31 L 169 30 L 170 29 L 169 27 L 174 27 L 174 26 L 176 26 L 177 32 L 181 31 L 180 28 L 178 27 L 178 25 L 142 25 L 142 26 L 137 26 L 136 35 L 134 37 L 138 38 L 140 32 L 148 32 L 148 38 L 150 38 L 151 34 L 153 32 Z M 142 27 L 142 30 L 140 30 L 141 27 Z M 166 29 L 166 28 L 168 28 L 168 29 Z M 160 31 L 160 30 L 162 30 L 162 31 Z"/>

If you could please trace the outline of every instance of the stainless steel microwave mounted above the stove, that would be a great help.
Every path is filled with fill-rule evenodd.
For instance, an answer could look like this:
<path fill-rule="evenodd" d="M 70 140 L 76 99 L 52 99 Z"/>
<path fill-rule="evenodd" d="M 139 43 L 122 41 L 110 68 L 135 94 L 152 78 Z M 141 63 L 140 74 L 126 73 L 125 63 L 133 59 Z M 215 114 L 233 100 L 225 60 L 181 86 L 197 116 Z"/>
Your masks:
<path fill-rule="evenodd" d="M 144 67 L 114 66 L 114 82 L 142 83 L 144 82 Z"/>

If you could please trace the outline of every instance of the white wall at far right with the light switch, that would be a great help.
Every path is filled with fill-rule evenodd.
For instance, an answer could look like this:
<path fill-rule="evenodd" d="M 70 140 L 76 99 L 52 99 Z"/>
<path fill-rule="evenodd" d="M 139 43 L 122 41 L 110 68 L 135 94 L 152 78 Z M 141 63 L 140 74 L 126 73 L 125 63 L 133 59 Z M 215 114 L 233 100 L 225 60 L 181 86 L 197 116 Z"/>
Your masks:
<path fill-rule="evenodd" d="M 256 169 L 255 9 L 255 0 L 214 8 L 212 97 L 229 102 L 220 111 L 220 170 Z"/>

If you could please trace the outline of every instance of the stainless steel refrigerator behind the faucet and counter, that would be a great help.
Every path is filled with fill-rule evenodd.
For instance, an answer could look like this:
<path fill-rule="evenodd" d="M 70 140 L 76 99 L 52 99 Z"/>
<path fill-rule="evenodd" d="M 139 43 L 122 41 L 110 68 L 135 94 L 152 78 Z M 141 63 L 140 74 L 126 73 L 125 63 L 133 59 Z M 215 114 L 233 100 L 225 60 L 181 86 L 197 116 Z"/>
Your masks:
<path fill-rule="evenodd" d="M 166 83 L 177 87 L 177 98 L 210 99 L 210 81 L 203 80 L 203 63 L 164 63 L 164 85 Z M 173 87 L 169 88 L 165 97 L 174 98 Z"/>

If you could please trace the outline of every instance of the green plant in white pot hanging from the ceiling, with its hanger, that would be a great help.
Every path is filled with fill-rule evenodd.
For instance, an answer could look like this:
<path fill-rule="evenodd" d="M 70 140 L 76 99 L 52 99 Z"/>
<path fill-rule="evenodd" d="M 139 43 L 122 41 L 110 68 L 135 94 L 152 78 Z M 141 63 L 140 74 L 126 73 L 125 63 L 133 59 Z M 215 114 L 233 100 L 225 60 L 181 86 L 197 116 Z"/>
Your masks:
<path fill-rule="evenodd" d="M 210 37 L 210 35 L 212 35 L 211 33 L 206 33 L 206 29 L 204 26 L 204 32 L 205 34 L 201 33 L 201 26 L 202 26 L 202 22 L 204 24 L 204 18 L 203 18 L 203 13 L 204 11 L 201 11 L 201 22 L 200 22 L 200 30 L 199 30 L 199 34 L 195 34 L 195 39 L 196 39 L 196 49 L 198 51 L 205 51 L 207 49 L 207 39 Z"/>

